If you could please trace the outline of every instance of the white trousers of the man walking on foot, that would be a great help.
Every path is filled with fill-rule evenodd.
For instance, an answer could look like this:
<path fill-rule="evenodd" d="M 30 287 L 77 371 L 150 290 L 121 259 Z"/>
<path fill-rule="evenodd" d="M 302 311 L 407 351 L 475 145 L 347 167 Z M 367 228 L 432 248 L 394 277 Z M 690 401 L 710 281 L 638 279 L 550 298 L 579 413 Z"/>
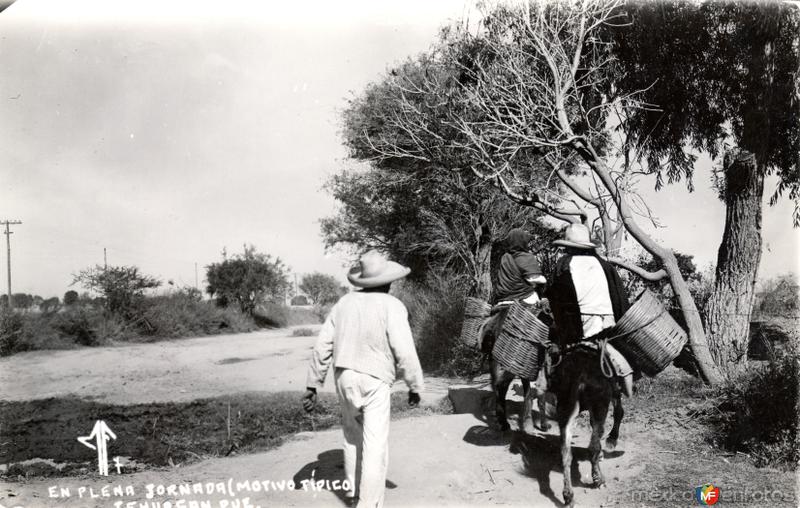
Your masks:
<path fill-rule="evenodd" d="M 342 407 L 344 473 L 360 507 L 383 506 L 389 464 L 391 387 L 378 378 L 336 369 L 336 394 Z"/>

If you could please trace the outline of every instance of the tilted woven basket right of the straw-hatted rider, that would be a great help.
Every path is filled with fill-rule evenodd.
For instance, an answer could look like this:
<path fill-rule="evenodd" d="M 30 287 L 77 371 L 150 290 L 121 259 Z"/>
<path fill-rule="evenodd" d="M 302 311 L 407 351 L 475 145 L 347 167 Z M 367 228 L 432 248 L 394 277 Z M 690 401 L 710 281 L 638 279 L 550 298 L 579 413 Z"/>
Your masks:
<path fill-rule="evenodd" d="M 650 291 L 643 291 L 617 322 L 612 344 L 631 365 L 655 376 L 680 354 L 686 333 Z"/>

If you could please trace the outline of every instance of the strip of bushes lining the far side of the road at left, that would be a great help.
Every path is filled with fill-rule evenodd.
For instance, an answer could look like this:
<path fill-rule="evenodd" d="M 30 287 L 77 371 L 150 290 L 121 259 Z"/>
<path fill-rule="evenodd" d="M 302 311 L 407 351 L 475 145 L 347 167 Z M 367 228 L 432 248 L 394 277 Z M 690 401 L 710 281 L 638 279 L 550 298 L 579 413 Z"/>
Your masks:
<path fill-rule="evenodd" d="M 193 287 L 175 288 L 135 266 L 94 266 L 74 276 L 85 293 L 62 300 L 13 295 L 0 300 L 0 356 L 39 349 L 150 342 L 179 337 L 250 332 L 321 321 L 317 308 L 284 304 L 286 268 L 250 246 L 207 267 L 203 299 Z"/>

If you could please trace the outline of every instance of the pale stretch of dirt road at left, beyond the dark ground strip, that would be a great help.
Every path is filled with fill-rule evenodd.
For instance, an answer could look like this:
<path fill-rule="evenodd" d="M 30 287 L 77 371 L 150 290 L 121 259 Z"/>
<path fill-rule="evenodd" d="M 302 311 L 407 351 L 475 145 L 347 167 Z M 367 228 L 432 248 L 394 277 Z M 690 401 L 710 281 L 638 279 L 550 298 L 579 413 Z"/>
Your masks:
<path fill-rule="evenodd" d="M 302 328 L 313 328 L 303 326 Z M 112 404 L 186 402 L 241 392 L 303 390 L 316 337 L 291 329 L 0 358 L 0 400 L 78 395 Z M 328 376 L 326 391 L 334 391 Z M 447 380 L 427 380 L 427 401 Z M 397 383 L 396 389 L 406 389 Z"/>

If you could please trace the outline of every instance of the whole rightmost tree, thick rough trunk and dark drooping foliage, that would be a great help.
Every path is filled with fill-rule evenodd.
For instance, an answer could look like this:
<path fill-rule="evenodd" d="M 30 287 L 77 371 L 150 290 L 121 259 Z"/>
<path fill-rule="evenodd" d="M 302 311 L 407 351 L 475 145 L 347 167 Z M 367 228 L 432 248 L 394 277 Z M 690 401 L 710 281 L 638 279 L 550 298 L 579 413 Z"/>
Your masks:
<path fill-rule="evenodd" d="M 778 176 L 800 224 L 800 9 L 788 2 L 631 2 L 611 30 L 621 93 L 652 106 L 625 118 L 627 146 L 648 170 L 692 186 L 694 152 L 719 160 L 727 206 L 708 335 L 723 368 L 746 360 L 761 258 L 764 177 Z"/>

